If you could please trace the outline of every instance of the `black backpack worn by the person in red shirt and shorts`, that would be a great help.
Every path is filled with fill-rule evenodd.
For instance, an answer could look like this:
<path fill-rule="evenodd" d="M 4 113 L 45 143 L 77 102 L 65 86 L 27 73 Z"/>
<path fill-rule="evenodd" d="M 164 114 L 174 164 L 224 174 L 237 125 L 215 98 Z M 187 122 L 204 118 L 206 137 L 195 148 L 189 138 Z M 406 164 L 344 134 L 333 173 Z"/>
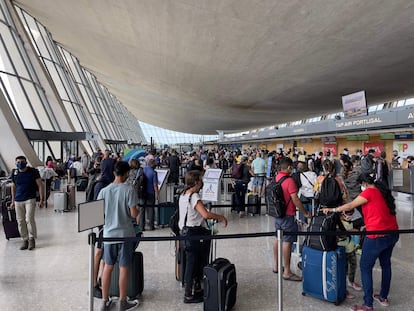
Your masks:
<path fill-rule="evenodd" d="M 282 183 L 290 176 L 283 176 L 278 182 L 274 178 L 269 185 L 266 186 L 265 200 L 267 206 L 268 215 L 276 218 L 282 218 L 286 215 L 287 206 L 289 201 L 285 202 L 285 196 L 283 194 Z"/>

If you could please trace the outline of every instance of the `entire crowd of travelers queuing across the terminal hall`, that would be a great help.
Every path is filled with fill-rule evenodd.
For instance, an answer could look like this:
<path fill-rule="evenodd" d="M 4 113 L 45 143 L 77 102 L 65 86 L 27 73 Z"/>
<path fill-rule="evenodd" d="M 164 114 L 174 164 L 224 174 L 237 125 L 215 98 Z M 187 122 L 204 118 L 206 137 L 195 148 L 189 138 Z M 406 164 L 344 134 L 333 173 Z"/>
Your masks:
<path fill-rule="evenodd" d="M 307 154 L 305 151 L 292 149 L 269 152 L 267 150 L 207 150 L 178 153 L 175 150 L 155 152 L 148 150 L 146 155 L 139 159 L 125 162 L 122 152 L 112 153 L 110 150 L 96 151 L 89 155 L 86 151 L 81 156 L 71 155 L 66 162 L 54 161 L 48 157 L 45 167 L 53 169 L 57 178 L 46 180 L 47 197 L 54 183 L 59 178 L 67 178 L 68 183 L 76 184 L 80 179 L 87 180 L 86 201 L 105 199 L 105 225 L 101 229 L 101 236 L 131 237 L 136 235 L 136 227 L 140 231 L 155 230 L 154 206 L 159 200 L 158 176 L 156 168 L 170 170 L 168 183 L 184 184 L 183 195 L 179 199 L 179 208 L 184 216 L 180 216 L 181 230 L 190 228 L 205 228 L 206 219 L 214 219 L 227 225 L 227 219 L 220 214 L 206 210 L 198 194 L 202 188 L 202 178 L 206 170 L 220 168 L 224 174 L 232 178 L 234 187 L 235 212 L 243 217 L 246 194 L 257 195 L 262 198 L 266 184 L 272 179 L 276 182 L 284 177 L 282 182 L 284 200 L 287 202 L 286 215 L 275 219 L 275 228 L 297 231 L 296 212 L 300 212 L 300 221 L 306 226 L 315 213 L 315 199 L 321 195 L 324 180 L 332 177 L 338 184 L 340 199 L 336 206 L 322 206 L 324 213 L 340 213 L 341 221 L 347 230 L 396 230 L 395 203 L 389 189 L 389 172 L 392 168 L 401 168 L 403 165 L 398 152 L 393 152 L 390 160 L 386 159 L 385 152 L 379 154 L 369 150 L 363 155 L 361 150 L 350 154 L 344 148 L 339 156 L 329 151 Z M 409 156 L 404 167 L 411 167 L 413 157 Z M 34 221 L 33 197 L 42 193 L 43 184 L 39 174 L 30 176 L 30 198 L 23 197 L 22 178 L 28 174 L 24 156 L 16 158 L 17 170 L 14 170 L 12 188 L 12 206 L 16 207 L 19 229 L 23 237 L 21 249 L 34 249 L 36 226 Z M 32 198 L 33 197 L 33 198 Z M 46 199 L 41 195 L 40 202 Z M 28 199 L 29 201 L 25 201 Z M 110 202 L 110 203 L 109 203 Z M 23 208 L 28 208 L 27 224 L 22 219 Z M 42 205 L 40 205 L 42 207 Z M 135 225 L 134 225 L 135 223 Z M 189 232 L 186 231 L 186 234 Z M 199 234 L 197 231 L 196 234 Z M 355 306 L 353 310 L 373 310 L 373 300 L 383 306 L 388 306 L 388 294 L 391 282 L 391 254 L 398 235 L 367 235 L 364 239 L 355 242 L 346 239 L 339 241 L 344 245 L 347 253 L 347 283 L 354 290 L 364 290 L 364 304 Z M 297 241 L 296 236 L 283 238 L 283 279 L 287 281 L 301 281 L 302 278 L 292 272 L 290 256 L 292 244 Z M 185 303 L 202 301 L 201 269 L 205 265 L 206 253 L 209 245 L 202 241 L 193 241 L 188 246 L 186 267 Z M 342 243 L 341 243 L 342 242 Z M 201 244 L 200 244 L 201 243 Z M 126 300 L 126 282 L 128 279 L 128 265 L 131 263 L 134 251 L 133 245 L 105 243 L 103 248 L 98 243 L 95 256 L 95 297 L 102 298 L 100 310 L 109 310 L 110 300 L 108 289 L 113 266 L 117 260 L 120 264 L 120 302 L 118 310 L 127 310 L 138 304 L 138 301 Z M 356 252 L 359 250 L 362 286 L 355 280 L 357 267 Z M 362 250 L 362 251 L 361 251 Z M 273 272 L 278 271 L 278 242 L 274 243 Z M 118 258 L 119 256 L 119 258 Z M 201 257 L 202 258 L 201 258 Z M 102 269 L 102 280 L 98 281 L 99 262 L 103 258 L 105 263 Z M 118 259 L 117 259 L 118 258 Z M 372 269 L 376 259 L 379 259 L 382 268 L 382 282 L 379 293 L 373 293 Z M 354 298 L 347 291 L 347 298 Z"/>

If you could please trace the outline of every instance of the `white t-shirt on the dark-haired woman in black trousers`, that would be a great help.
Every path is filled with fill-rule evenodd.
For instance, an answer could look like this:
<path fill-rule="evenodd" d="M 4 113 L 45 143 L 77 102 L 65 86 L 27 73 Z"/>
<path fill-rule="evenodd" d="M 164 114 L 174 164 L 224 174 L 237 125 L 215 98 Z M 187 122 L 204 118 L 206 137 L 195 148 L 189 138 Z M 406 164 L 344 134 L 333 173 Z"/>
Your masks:
<path fill-rule="evenodd" d="M 180 207 L 180 220 L 178 227 L 182 229 L 184 227 L 185 215 L 187 214 L 187 227 L 205 226 L 206 222 L 201 214 L 195 208 L 197 202 L 201 200 L 200 194 L 193 193 L 190 199 L 190 193 L 180 195 L 179 207 Z"/>

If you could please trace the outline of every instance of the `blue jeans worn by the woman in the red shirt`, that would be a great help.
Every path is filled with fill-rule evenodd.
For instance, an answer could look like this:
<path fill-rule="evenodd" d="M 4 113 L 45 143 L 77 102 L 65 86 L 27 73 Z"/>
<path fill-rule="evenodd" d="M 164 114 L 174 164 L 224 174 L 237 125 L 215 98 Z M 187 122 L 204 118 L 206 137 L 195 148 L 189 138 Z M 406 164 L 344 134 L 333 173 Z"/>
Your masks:
<path fill-rule="evenodd" d="M 398 238 L 398 234 L 393 234 L 375 239 L 366 237 L 364 240 L 359 265 L 361 269 L 362 287 L 364 288 L 364 304 L 368 307 L 372 307 L 374 302 L 372 269 L 377 258 L 379 258 L 382 269 L 380 296 L 382 298 L 388 298 L 391 284 L 391 255 Z"/>

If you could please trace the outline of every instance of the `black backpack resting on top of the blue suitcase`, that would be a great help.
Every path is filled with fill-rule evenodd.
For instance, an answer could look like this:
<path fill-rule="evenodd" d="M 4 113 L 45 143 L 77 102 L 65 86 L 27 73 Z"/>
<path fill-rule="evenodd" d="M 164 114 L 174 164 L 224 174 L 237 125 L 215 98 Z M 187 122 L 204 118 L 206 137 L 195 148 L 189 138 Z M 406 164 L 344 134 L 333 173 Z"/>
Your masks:
<path fill-rule="evenodd" d="M 308 232 L 335 232 L 337 231 L 337 227 L 339 227 L 340 231 L 346 231 L 338 213 L 330 213 L 328 215 L 318 213 L 312 217 Z M 303 245 L 321 251 L 333 251 L 338 246 L 337 236 L 307 235 Z"/>

